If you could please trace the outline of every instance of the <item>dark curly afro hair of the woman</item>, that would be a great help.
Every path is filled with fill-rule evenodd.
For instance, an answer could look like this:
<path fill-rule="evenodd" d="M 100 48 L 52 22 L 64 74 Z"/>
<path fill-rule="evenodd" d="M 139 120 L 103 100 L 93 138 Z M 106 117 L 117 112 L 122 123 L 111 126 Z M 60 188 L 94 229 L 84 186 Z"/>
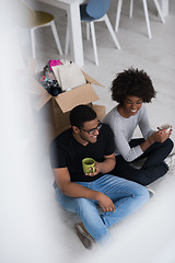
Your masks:
<path fill-rule="evenodd" d="M 156 95 L 147 72 L 132 67 L 117 75 L 112 82 L 110 91 L 112 99 L 120 104 L 128 95 L 141 98 L 143 102 L 151 102 L 151 99 Z"/>

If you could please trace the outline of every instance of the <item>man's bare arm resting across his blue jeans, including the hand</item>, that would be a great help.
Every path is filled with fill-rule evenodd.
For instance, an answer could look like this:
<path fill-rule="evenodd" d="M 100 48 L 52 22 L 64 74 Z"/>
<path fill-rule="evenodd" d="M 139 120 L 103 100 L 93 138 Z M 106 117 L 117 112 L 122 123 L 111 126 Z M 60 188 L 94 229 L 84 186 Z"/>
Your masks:
<path fill-rule="evenodd" d="M 88 199 L 96 199 L 104 211 L 115 211 L 113 201 L 105 194 L 90 190 L 80 184 L 70 181 L 68 168 L 52 169 L 57 185 L 62 194 L 71 197 L 83 197 Z"/>

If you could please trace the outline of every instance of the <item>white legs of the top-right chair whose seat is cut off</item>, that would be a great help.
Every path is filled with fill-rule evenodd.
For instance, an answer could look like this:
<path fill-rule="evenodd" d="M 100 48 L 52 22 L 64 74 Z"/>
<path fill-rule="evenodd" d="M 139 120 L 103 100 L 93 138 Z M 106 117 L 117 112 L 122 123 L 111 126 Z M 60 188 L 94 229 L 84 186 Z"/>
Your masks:
<path fill-rule="evenodd" d="M 159 1 L 158 0 L 153 0 L 153 1 L 154 1 L 155 7 L 156 7 L 158 13 L 159 13 L 159 15 L 161 18 L 162 23 L 165 23 L 165 20 L 163 18 L 163 13 L 162 13 L 162 10 L 161 10 Z M 149 38 L 152 38 L 147 0 L 142 0 L 142 3 L 143 3 L 145 22 L 147 22 L 147 27 L 148 27 L 148 35 L 149 35 Z M 116 22 L 115 22 L 115 31 L 116 32 L 118 31 L 118 27 L 119 27 L 121 7 L 122 7 L 122 0 L 118 0 L 117 13 L 116 13 Z M 133 0 L 130 0 L 130 10 L 129 10 L 129 16 L 130 18 L 132 18 L 132 12 L 133 12 Z"/>

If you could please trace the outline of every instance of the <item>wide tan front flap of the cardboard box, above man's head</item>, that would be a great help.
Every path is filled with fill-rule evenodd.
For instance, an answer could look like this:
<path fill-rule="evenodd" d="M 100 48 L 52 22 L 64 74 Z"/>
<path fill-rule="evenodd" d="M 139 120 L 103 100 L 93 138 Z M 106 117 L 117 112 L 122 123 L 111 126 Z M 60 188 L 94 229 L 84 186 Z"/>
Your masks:
<path fill-rule="evenodd" d="M 89 83 L 55 96 L 56 102 L 63 113 L 71 111 L 79 104 L 88 104 L 98 99 L 96 92 Z"/>

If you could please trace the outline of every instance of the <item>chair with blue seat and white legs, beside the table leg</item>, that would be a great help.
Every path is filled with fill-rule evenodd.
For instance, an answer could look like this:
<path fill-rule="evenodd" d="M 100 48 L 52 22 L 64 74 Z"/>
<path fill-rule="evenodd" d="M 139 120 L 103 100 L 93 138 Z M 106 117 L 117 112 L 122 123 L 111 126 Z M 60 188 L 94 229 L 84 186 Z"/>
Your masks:
<path fill-rule="evenodd" d="M 96 36 L 95 36 L 95 28 L 94 23 L 95 22 L 102 22 L 104 21 L 106 23 L 106 26 L 110 33 L 110 36 L 118 49 L 120 49 L 120 45 L 118 43 L 118 39 L 115 35 L 115 32 L 113 30 L 113 26 L 109 22 L 109 19 L 106 14 L 106 12 L 109 9 L 110 0 L 90 0 L 85 4 L 80 5 L 80 14 L 81 14 L 81 21 L 86 23 L 86 37 L 90 39 L 90 28 L 91 28 L 91 35 L 92 35 L 92 43 L 93 43 L 93 49 L 94 49 L 94 56 L 95 56 L 95 64 L 98 65 L 98 56 L 97 56 L 97 47 L 96 47 Z M 66 48 L 65 53 L 68 54 L 69 50 L 69 27 L 67 26 L 67 36 L 66 36 Z"/>

